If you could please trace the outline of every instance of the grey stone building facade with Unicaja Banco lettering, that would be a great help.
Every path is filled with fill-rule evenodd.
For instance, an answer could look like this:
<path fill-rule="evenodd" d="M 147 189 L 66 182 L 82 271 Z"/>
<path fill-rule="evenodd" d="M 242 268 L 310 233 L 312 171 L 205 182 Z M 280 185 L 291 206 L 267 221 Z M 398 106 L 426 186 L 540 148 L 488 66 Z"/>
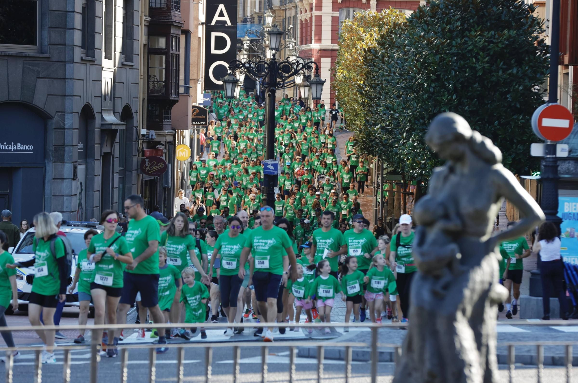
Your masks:
<path fill-rule="evenodd" d="M 0 3 L 0 209 L 14 222 L 99 218 L 137 191 L 141 4 Z"/>

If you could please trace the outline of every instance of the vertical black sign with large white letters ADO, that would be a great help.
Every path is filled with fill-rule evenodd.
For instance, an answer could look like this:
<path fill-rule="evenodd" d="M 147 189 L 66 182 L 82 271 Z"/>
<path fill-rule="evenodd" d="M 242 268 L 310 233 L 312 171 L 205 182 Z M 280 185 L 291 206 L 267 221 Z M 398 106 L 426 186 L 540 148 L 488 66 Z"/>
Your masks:
<path fill-rule="evenodd" d="M 205 89 L 222 90 L 229 63 L 237 56 L 237 1 L 207 3 Z"/>

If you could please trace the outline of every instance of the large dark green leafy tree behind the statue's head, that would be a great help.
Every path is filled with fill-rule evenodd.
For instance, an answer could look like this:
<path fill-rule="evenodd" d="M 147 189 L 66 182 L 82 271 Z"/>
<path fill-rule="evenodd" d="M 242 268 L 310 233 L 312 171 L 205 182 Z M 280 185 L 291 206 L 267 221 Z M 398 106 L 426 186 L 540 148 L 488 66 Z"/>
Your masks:
<path fill-rule="evenodd" d="M 537 168 L 530 121 L 544 103 L 549 49 L 534 10 L 521 0 L 436 0 L 381 34 L 364 50 L 371 75 L 357 82 L 366 126 L 358 150 L 427 184 L 440 161 L 423 137 L 449 111 L 490 138 L 514 174 Z"/>

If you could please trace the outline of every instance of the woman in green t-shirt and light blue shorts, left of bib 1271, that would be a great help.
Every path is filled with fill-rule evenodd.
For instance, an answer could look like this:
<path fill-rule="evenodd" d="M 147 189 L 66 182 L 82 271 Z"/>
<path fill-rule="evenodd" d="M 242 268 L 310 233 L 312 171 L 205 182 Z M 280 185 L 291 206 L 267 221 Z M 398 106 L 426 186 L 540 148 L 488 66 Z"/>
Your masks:
<path fill-rule="evenodd" d="M 86 249 L 82 249 L 78 254 L 78 259 L 76 262 L 76 271 L 74 274 L 74 279 L 72 285 L 68 288 L 68 293 L 72 294 L 76 289 L 76 283 L 78 285 L 78 301 L 80 305 L 80 312 L 78 314 L 78 324 L 79 326 L 86 325 L 88 321 L 88 311 L 90 310 L 90 301 L 92 296 L 90 294 L 90 278 L 92 277 L 92 271 L 94 270 L 94 262 L 90 262 L 86 256 L 88 251 L 88 246 L 90 246 L 90 241 L 92 237 L 98 235 L 98 231 L 90 229 L 84 233 L 84 244 Z M 84 330 L 80 330 L 79 336 L 76 337 L 74 343 L 84 344 Z"/>

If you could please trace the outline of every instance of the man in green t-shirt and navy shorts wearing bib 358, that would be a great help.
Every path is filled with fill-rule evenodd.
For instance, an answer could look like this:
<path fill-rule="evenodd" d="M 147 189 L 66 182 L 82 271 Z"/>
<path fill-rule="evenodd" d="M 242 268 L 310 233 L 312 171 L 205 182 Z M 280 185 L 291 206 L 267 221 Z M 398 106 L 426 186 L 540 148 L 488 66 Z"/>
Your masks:
<path fill-rule="evenodd" d="M 270 206 L 262 207 L 260 210 L 261 227 L 257 227 L 247 235 L 240 259 L 239 278 L 244 279 L 244 264 L 251 253 L 254 262 L 251 278 L 259 311 L 266 322 L 273 323 L 277 316 L 280 283 L 283 282 L 284 285 L 287 283 L 289 264 L 291 264 L 291 280 L 297 279 L 295 274 L 297 258 L 287 232 L 273 226 L 275 210 Z M 257 333 L 260 333 L 260 330 L 264 341 L 273 341 L 273 327 L 268 327 L 264 334 L 262 329 L 258 329 Z"/>

